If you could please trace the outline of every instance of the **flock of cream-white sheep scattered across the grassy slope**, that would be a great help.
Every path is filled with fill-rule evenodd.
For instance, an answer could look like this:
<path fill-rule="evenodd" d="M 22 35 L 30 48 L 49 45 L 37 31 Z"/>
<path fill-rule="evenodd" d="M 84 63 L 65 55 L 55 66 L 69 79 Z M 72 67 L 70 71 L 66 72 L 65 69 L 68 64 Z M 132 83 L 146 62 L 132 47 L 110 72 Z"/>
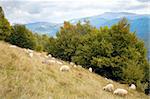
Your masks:
<path fill-rule="evenodd" d="M 16 48 L 16 46 L 10 46 L 12 48 Z M 29 57 L 33 57 L 33 50 L 30 49 L 24 49 L 25 52 L 28 54 Z M 59 68 L 59 70 L 61 72 L 69 72 L 70 71 L 70 67 L 68 65 L 64 65 L 63 62 L 56 60 L 54 57 L 52 57 L 51 54 L 49 55 L 45 55 L 44 60 L 42 61 L 43 64 L 55 64 L 57 63 L 58 65 L 60 65 L 61 67 Z M 70 62 L 69 65 L 71 65 L 72 67 L 76 68 L 76 67 L 82 67 L 81 65 L 76 65 L 73 62 Z M 92 72 L 92 68 L 89 67 L 89 72 Z M 106 81 L 109 82 L 109 84 L 107 84 L 106 86 L 103 87 L 104 91 L 107 92 L 112 92 L 114 95 L 119 95 L 119 96 L 126 96 L 128 94 L 128 91 L 126 89 L 123 88 L 116 88 L 114 87 L 114 85 L 112 84 L 113 81 L 111 79 L 107 79 L 105 78 Z M 129 89 L 132 90 L 136 90 L 136 86 L 134 84 L 131 84 L 129 86 Z"/>

